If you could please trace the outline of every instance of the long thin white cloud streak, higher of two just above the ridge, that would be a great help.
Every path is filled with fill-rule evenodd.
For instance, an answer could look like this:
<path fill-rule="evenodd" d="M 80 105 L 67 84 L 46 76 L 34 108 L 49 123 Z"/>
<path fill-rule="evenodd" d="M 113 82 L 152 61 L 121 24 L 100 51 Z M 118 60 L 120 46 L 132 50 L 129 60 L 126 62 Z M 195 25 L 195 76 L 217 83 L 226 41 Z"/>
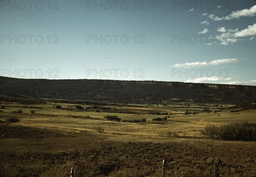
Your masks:
<path fill-rule="evenodd" d="M 172 65 L 172 67 L 193 67 L 193 66 L 208 66 L 208 65 L 219 65 L 219 64 L 227 64 L 227 63 L 237 63 L 238 59 L 216 59 L 209 63 L 207 62 L 191 62 L 191 63 L 181 63 Z"/>

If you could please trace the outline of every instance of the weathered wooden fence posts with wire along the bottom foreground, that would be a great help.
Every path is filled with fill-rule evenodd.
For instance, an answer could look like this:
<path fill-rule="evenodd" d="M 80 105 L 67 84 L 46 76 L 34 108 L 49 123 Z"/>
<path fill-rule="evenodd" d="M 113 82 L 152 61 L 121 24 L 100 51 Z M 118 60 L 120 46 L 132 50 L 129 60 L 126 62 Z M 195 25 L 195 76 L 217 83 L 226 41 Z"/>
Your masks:
<path fill-rule="evenodd" d="M 166 162 L 167 160 L 164 159 L 163 160 L 163 167 L 162 167 L 162 175 L 153 175 L 153 176 L 158 176 L 158 177 L 172 177 L 171 175 L 166 175 L 165 173 L 165 170 L 166 170 Z M 220 160 L 220 159 L 216 159 L 215 162 L 214 162 L 214 165 L 213 165 L 213 177 L 220 177 L 220 171 L 219 171 L 219 165 L 223 165 L 223 161 Z M 151 175 L 152 176 L 152 175 Z M 71 177 L 75 177 L 75 174 L 74 174 L 74 167 L 71 168 Z M 106 176 L 106 177 L 116 177 L 116 176 Z M 131 176 L 129 176 L 131 177 Z M 137 177 L 137 176 L 134 176 L 134 177 Z"/>

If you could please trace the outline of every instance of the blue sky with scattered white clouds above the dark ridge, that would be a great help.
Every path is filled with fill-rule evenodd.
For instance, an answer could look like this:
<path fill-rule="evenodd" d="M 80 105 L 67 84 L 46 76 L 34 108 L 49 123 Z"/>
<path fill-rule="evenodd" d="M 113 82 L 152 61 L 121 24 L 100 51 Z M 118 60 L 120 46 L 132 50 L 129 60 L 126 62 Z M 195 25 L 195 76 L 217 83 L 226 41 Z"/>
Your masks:
<path fill-rule="evenodd" d="M 0 1 L 1 76 L 256 85 L 256 1 Z"/>

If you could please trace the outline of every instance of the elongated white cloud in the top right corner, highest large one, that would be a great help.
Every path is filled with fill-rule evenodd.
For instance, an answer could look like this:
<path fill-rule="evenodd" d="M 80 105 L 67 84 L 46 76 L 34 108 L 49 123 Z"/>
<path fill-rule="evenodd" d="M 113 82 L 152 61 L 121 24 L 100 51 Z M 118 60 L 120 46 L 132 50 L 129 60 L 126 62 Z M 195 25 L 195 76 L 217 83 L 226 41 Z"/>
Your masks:
<path fill-rule="evenodd" d="M 238 11 L 233 11 L 231 14 L 226 17 L 218 17 L 215 14 L 210 14 L 208 17 L 213 21 L 221 21 L 221 20 L 231 20 L 231 19 L 239 19 L 240 17 L 253 17 L 256 15 L 256 5 L 252 6 L 250 9 L 243 9 Z"/>

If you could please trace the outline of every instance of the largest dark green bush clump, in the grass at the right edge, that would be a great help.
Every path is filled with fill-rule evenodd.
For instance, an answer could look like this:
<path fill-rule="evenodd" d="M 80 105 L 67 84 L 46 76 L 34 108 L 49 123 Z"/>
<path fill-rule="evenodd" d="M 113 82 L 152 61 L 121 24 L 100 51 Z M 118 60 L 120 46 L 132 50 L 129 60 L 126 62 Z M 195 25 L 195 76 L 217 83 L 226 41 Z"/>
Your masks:
<path fill-rule="evenodd" d="M 216 140 L 256 140 L 256 123 L 241 122 L 225 125 L 207 125 L 201 135 Z"/>

